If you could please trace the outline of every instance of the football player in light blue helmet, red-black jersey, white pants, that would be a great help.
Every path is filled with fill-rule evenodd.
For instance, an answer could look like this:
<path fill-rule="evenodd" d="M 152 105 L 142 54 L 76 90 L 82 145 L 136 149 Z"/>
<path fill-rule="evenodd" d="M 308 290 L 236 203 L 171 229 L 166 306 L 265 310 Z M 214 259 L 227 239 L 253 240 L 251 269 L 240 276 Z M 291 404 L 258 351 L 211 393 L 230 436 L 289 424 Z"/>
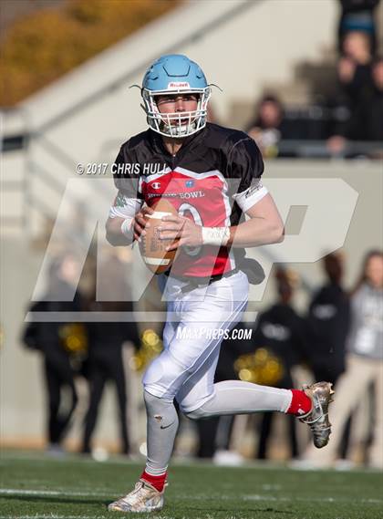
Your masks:
<path fill-rule="evenodd" d="M 150 205 L 166 197 L 178 216 L 162 218 L 160 238 L 175 240 L 170 248 L 180 251 L 168 276 L 160 275 L 168 301 L 164 350 L 143 378 L 147 462 L 134 490 L 109 504 L 120 512 L 163 506 L 178 429 L 174 399 L 191 420 L 264 410 L 295 414 L 321 448 L 330 434 L 333 392 L 327 382 L 303 390 L 239 380 L 214 384 L 223 339 L 216 332 L 241 320 L 248 296 L 248 278 L 233 250 L 280 242 L 284 225 L 260 180 L 264 162 L 254 140 L 206 122 L 211 88 L 201 67 L 186 56 L 162 56 L 147 70 L 141 95 L 150 128 L 119 151 L 119 193 L 107 238 L 113 245 L 140 240 Z M 241 223 L 242 213 L 248 220 Z"/>

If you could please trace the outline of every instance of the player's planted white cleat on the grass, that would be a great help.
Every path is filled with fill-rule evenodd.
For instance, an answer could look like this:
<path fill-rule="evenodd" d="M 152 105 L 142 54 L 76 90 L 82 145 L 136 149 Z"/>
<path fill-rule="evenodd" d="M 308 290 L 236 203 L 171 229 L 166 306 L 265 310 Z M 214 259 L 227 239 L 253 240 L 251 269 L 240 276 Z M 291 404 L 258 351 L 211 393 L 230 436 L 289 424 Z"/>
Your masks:
<path fill-rule="evenodd" d="M 154 512 L 163 507 L 163 493 L 159 492 L 150 483 L 140 480 L 134 490 L 118 501 L 110 503 L 109 511 L 114 512 Z"/>

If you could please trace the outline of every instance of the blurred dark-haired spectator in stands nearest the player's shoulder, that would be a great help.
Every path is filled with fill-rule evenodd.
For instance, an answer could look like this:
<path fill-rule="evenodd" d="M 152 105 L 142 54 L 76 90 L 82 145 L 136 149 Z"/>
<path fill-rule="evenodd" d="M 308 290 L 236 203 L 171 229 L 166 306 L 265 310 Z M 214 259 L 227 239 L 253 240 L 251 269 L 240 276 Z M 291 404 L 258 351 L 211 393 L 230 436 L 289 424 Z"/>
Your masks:
<path fill-rule="evenodd" d="M 278 142 L 285 138 L 284 108 L 273 95 L 265 95 L 259 102 L 254 121 L 247 133 L 255 140 L 264 158 L 278 154 Z"/>

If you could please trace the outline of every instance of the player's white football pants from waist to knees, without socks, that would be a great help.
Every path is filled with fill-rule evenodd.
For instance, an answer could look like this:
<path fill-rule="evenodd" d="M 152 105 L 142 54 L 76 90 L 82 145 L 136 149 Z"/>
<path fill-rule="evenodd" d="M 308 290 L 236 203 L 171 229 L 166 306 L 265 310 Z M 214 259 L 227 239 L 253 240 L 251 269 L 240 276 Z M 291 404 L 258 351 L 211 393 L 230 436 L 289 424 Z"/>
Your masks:
<path fill-rule="evenodd" d="M 211 285 L 181 292 L 185 282 L 169 277 L 164 350 L 147 369 L 143 384 L 151 395 L 178 400 L 184 413 L 200 408 L 214 395 L 214 373 L 223 334 L 243 317 L 249 283 L 243 272 Z"/>

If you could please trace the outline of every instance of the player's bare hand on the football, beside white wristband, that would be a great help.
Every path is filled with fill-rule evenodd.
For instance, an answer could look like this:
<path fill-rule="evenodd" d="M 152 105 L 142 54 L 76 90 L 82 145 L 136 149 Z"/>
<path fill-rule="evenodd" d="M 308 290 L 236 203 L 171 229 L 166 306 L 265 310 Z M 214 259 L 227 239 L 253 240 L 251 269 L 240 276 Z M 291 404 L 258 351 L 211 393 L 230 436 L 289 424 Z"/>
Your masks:
<path fill-rule="evenodd" d="M 196 225 L 189 218 L 184 216 L 163 216 L 158 230 L 160 240 L 175 240 L 174 244 L 166 249 L 173 251 L 182 245 L 195 247 L 202 245 L 202 226 Z"/>

